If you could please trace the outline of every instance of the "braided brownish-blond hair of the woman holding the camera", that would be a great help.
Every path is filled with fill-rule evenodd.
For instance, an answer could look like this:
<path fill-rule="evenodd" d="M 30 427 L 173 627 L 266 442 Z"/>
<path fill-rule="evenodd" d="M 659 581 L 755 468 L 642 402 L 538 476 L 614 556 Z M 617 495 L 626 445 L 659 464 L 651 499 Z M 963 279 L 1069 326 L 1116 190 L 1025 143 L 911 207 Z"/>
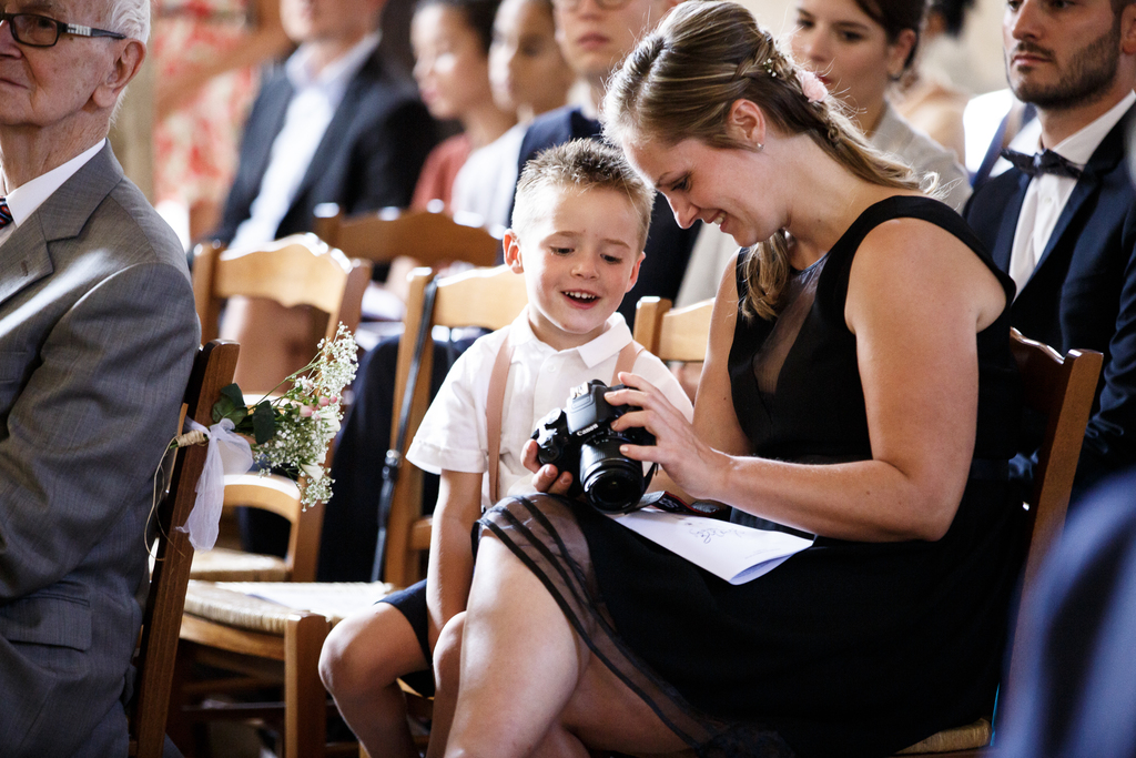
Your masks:
<path fill-rule="evenodd" d="M 679 3 L 632 52 L 608 88 L 604 132 L 618 144 L 674 145 L 683 140 L 719 149 L 751 149 L 726 132 L 737 100 L 757 103 L 780 134 L 807 134 L 861 180 L 919 189 L 911 169 L 875 151 L 844 114 L 845 106 L 782 52 L 744 7 L 726 0 Z M 745 266 L 743 311 L 772 318 L 788 281 L 788 244 L 779 231 L 757 245 Z"/>

